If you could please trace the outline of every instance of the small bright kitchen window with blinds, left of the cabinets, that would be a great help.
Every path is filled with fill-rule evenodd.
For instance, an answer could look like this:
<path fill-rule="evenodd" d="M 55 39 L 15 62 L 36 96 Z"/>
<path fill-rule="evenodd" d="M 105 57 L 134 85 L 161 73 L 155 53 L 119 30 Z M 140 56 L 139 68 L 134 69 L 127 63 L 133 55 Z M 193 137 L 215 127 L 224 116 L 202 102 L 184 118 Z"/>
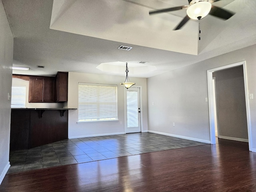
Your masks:
<path fill-rule="evenodd" d="M 12 86 L 12 108 L 24 108 L 26 102 L 26 86 Z"/>

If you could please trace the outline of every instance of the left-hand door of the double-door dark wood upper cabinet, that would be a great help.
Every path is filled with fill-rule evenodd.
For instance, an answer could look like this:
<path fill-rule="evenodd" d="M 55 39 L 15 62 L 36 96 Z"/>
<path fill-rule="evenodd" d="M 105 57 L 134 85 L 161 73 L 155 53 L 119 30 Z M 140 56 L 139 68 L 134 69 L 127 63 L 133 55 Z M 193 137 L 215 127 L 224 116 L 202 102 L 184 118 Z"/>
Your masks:
<path fill-rule="evenodd" d="M 43 78 L 30 78 L 28 102 L 43 102 Z"/>

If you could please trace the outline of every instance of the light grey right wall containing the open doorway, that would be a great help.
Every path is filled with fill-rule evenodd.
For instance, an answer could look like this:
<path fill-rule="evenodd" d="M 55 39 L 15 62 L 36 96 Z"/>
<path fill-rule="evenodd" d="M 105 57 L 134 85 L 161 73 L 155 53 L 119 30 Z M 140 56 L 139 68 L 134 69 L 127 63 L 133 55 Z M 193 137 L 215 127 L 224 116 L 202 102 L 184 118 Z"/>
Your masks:
<path fill-rule="evenodd" d="M 206 71 L 246 60 L 248 90 L 256 95 L 255 53 L 253 45 L 148 78 L 149 132 L 210 143 Z M 252 148 L 256 151 L 256 99 L 249 100 L 249 106 Z"/>

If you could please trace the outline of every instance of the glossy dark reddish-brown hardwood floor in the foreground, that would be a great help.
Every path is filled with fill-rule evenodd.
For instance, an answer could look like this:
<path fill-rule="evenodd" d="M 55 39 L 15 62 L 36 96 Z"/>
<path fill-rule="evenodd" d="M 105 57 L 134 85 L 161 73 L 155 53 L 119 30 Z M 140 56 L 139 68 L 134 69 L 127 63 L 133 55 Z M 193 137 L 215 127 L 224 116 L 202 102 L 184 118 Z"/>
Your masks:
<path fill-rule="evenodd" d="M 1 192 L 255 192 L 248 143 L 203 145 L 8 174 Z"/>

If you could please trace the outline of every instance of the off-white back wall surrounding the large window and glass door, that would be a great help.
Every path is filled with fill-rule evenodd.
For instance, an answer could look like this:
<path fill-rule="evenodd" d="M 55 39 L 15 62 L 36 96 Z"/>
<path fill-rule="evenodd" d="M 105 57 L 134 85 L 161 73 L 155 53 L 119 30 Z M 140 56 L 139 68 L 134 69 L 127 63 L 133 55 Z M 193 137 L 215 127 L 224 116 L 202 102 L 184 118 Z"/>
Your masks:
<path fill-rule="evenodd" d="M 108 76 L 84 73 L 68 73 L 68 102 L 64 106 L 66 108 L 78 108 L 78 82 L 100 83 L 100 84 L 117 84 L 117 100 L 118 100 L 118 122 L 102 122 L 102 123 L 84 123 L 77 124 L 78 110 L 68 111 L 68 137 L 80 138 L 87 136 L 100 136 L 124 133 L 124 87 L 120 85 L 125 76 Z M 142 132 L 148 130 L 148 114 L 147 114 L 147 86 L 146 78 L 130 78 L 141 86 L 142 94 Z M 122 122 L 122 125 L 120 125 Z"/>

